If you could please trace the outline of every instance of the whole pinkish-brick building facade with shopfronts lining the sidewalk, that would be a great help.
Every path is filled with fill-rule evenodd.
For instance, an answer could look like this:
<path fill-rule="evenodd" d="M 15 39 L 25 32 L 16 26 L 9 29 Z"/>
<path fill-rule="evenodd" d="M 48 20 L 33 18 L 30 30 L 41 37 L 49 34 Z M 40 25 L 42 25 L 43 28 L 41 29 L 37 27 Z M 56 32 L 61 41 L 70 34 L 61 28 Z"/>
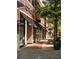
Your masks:
<path fill-rule="evenodd" d="M 17 49 L 44 39 L 44 19 L 36 17 L 37 14 L 35 13 L 35 5 L 40 4 L 40 1 L 17 1 Z"/>

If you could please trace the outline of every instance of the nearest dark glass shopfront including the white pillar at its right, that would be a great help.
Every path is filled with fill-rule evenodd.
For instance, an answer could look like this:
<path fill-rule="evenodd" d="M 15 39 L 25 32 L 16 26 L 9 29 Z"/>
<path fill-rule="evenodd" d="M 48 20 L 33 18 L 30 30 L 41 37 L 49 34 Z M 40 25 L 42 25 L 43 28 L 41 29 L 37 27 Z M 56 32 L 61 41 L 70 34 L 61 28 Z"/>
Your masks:
<path fill-rule="evenodd" d="M 19 48 L 24 46 L 26 44 L 26 20 L 25 18 L 22 16 L 22 14 L 20 14 L 20 20 L 18 20 L 17 23 L 17 32 L 18 32 L 18 46 Z"/>

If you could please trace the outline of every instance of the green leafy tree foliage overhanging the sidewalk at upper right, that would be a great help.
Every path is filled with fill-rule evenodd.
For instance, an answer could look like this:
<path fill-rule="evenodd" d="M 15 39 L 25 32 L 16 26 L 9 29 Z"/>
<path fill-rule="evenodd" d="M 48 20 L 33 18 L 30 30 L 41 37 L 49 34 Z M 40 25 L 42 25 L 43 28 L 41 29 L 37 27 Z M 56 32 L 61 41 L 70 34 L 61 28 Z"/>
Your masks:
<path fill-rule="evenodd" d="M 60 31 L 61 26 L 61 0 L 45 0 L 44 1 L 45 6 L 36 6 L 36 12 L 40 14 L 42 17 L 49 18 L 49 22 L 53 23 L 55 20 L 57 20 L 57 27 L 58 31 Z"/>

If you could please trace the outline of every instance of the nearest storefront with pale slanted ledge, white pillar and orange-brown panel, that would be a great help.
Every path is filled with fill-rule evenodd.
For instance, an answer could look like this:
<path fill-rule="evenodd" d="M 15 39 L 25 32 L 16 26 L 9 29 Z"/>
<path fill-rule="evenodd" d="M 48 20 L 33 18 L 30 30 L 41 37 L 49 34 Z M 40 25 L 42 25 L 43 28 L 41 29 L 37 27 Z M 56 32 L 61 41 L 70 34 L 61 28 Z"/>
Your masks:
<path fill-rule="evenodd" d="M 33 19 L 23 8 L 19 8 L 17 25 L 17 47 L 18 49 L 27 43 L 33 43 Z"/>

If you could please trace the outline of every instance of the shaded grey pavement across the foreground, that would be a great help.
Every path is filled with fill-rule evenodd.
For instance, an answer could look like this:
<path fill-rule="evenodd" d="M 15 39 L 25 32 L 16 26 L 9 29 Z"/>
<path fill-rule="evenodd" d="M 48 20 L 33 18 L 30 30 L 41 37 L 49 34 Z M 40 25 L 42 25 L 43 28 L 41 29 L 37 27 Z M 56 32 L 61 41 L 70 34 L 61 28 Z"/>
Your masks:
<path fill-rule="evenodd" d="M 17 59 L 61 59 L 61 51 L 53 48 L 23 48 L 17 52 Z"/>

